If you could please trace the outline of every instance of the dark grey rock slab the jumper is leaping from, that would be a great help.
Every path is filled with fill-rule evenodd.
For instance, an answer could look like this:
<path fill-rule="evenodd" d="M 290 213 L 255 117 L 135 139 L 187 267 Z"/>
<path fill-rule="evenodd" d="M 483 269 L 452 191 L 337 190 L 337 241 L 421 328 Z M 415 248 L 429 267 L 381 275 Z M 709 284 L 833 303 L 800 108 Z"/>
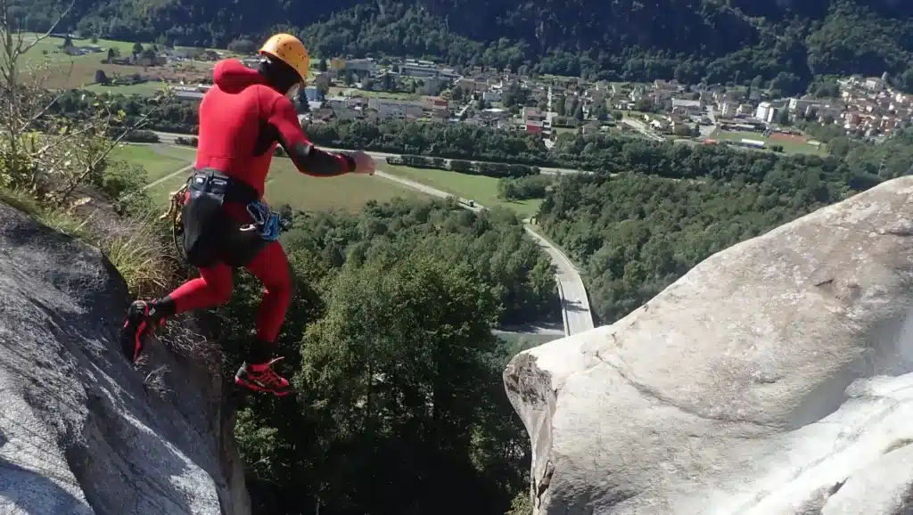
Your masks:
<path fill-rule="evenodd" d="M 250 512 L 220 376 L 152 345 L 150 384 L 127 300 L 98 249 L 0 204 L 0 512 Z"/>

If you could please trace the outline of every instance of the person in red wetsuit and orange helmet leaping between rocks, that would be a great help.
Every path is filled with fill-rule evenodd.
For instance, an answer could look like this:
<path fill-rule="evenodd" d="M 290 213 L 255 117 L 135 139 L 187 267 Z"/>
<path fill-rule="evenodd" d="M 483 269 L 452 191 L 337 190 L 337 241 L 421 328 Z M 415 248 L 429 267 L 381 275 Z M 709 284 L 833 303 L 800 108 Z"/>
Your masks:
<path fill-rule="evenodd" d="M 257 69 L 237 59 L 219 61 L 214 87 L 200 103 L 199 143 L 194 174 L 184 196 L 184 250 L 200 277 L 158 300 L 135 300 L 127 311 L 121 345 L 136 362 L 143 341 L 170 316 L 212 308 L 232 294 L 232 268 L 245 267 L 266 287 L 257 312 L 257 337 L 247 349 L 237 384 L 283 395 L 289 382 L 272 370 L 275 342 L 291 300 L 285 250 L 276 239 L 250 230 L 251 205 L 264 192 L 277 145 L 301 173 L 334 177 L 374 172 L 364 152 L 325 152 L 301 130 L 289 96 L 307 78 L 310 58 L 297 37 L 278 34 L 260 49 Z"/>

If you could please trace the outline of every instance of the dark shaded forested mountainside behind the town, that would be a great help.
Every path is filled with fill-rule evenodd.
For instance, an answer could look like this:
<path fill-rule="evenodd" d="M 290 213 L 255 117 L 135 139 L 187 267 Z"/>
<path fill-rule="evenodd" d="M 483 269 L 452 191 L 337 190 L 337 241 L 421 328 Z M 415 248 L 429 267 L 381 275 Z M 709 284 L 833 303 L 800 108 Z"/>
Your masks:
<path fill-rule="evenodd" d="M 60 0 L 20 0 L 24 26 L 50 24 Z M 39 6 L 40 8 L 35 8 Z M 226 47 L 281 28 L 313 52 L 436 58 L 586 78 L 748 83 L 803 89 L 814 76 L 906 74 L 913 4 L 892 0 L 77 0 L 65 26 L 87 35 Z"/>

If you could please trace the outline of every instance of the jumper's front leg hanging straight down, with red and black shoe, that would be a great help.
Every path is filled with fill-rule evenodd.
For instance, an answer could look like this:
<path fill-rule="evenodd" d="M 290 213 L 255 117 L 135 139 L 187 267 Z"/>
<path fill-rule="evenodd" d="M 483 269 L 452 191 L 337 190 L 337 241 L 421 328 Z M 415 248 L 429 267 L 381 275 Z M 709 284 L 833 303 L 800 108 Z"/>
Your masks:
<path fill-rule="evenodd" d="M 266 291 L 257 310 L 257 339 L 247 349 L 245 363 L 235 375 L 235 382 L 254 390 L 284 395 L 289 393 L 289 382 L 271 365 L 276 349 L 276 339 L 291 303 L 291 277 L 289 260 L 278 241 L 273 241 L 247 265 Z"/>

